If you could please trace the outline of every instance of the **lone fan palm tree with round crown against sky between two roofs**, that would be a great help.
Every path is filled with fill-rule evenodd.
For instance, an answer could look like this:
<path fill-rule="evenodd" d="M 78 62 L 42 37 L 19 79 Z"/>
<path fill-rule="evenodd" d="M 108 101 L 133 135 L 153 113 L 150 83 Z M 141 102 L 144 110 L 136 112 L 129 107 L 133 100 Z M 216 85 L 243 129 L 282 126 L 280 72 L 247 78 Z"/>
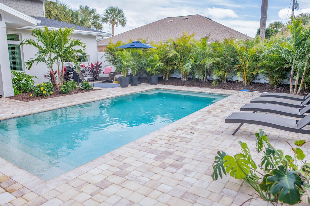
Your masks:
<path fill-rule="evenodd" d="M 114 36 L 114 27 L 126 25 L 126 17 L 124 11 L 117 6 L 109 6 L 104 9 L 104 14 L 101 19 L 102 23 L 109 23 L 112 27 L 112 36 Z"/>

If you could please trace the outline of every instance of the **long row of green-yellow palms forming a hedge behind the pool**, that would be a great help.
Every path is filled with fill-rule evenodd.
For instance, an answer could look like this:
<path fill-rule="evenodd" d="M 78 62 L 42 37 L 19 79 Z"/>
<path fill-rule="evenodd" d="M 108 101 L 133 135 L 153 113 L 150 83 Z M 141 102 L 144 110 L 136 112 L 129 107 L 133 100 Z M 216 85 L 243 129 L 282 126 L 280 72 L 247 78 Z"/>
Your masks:
<path fill-rule="evenodd" d="M 227 38 L 211 41 L 208 36 L 195 40 L 195 34 L 186 31 L 167 42 L 151 43 L 157 49 L 128 50 L 133 56 L 132 69 L 137 74 L 149 75 L 146 68 L 154 56 L 157 73 L 168 80 L 171 74 L 179 74 L 182 81 L 189 77 L 208 82 L 212 86 L 225 83 L 237 77 L 245 86 L 254 79 L 261 78 L 268 86 L 277 88 L 281 82 L 290 82 L 290 92 L 299 94 L 302 89 L 310 88 L 310 28 L 305 27 L 299 18 L 292 18 L 282 29 L 282 33 L 260 41 L 259 37 L 249 39 Z M 146 42 L 146 40 L 140 40 Z M 129 40 L 131 42 L 131 40 Z M 117 57 L 121 49 L 115 47 L 125 42 L 110 43 L 106 48 L 107 61 L 119 68 Z M 294 86 L 293 86 L 294 85 Z"/>

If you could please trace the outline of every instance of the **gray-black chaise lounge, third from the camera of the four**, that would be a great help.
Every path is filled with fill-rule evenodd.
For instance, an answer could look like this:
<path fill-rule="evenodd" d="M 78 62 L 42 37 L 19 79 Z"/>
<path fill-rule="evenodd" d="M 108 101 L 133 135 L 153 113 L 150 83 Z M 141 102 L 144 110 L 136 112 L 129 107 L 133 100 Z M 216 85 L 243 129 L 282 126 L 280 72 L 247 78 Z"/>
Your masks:
<path fill-rule="evenodd" d="M 269 103 L 269 104 L 279 104 L 287 107 L 295 107 L 303 109 L 306 104 L 310 102 L 310 97 L 304 101 L 296 101 L 291 99 L 281 99 L 276 97 L 255 97 L 251 100 L 251 103 Z"/>

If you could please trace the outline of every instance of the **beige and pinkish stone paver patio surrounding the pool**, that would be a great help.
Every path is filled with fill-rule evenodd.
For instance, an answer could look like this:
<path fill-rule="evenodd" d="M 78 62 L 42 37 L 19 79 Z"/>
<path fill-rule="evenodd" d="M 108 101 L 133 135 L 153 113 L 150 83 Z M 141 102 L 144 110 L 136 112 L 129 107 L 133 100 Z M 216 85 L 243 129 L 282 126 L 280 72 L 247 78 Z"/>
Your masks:
<path fill-rule="evenodd" d="M 232 136 L 237 124 L 224 119 L 259 96 L 256 92 L 142 84 L 33 102 L 1 98 L 0 120 L 155 88 L 230 96 L 49 181 L 0 158 L 0 205 L 241 205 L 256 197 L 255 191 L 231 177 L 213 181 L 212 163 L 219 150 L 240 151 L 239 140 L 255 154 L 260 128 L 290 155 L 285 140 L 305 139 L 309 158 L 304 134 L 245 124 Z M 243 205 L 272 204 L 253 199 Z"/>

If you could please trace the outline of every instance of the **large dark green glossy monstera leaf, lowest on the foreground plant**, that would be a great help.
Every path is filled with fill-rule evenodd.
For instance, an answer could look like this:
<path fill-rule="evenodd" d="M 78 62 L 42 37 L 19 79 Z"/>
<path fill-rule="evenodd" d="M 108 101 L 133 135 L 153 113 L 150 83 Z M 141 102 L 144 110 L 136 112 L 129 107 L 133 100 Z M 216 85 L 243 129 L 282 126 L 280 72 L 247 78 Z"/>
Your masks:
<path fill-rule="evenodd" d="M 300 201 L 299 188 L 301 179 L 296 171 L 285 172 L 283 166 L 272 170 L 272 176 L 267 177 L 266 183 L 273 184 L 271 194 L 279 195 L 279 201 L 287 204 L 296 204 Z"/>

